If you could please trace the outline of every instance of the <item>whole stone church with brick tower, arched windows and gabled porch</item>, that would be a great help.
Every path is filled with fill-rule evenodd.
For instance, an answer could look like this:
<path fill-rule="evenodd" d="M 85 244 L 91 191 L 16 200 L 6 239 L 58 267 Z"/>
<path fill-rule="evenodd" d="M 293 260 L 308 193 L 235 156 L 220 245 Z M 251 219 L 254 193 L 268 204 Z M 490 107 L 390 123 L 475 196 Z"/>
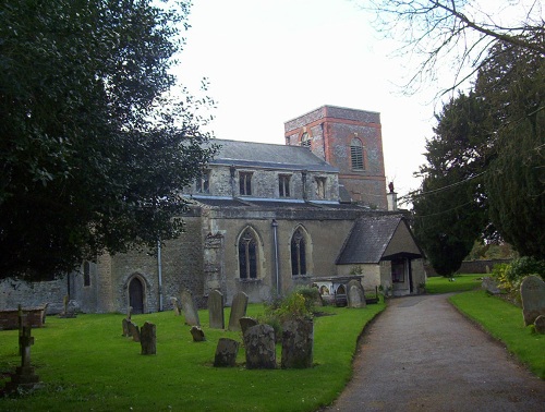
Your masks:
<path fill-rule="evenodd" d="M 335 296 L 350 279 L 417 293 L 423 253 L 386 190 L 379 113 L 323 106 L 284 130 L 286 145 L 215 141 L 219 153 L 183 189 L 185 231 L 157 256 L 99 256 L 35 284 L 26 303 L 68 293 L 87 313 L 147 313 L 172 307 L 183 289 L 206 306 L 215 289 L 227 304 L 239 291 L 262 302 L 298 286 Z M 0 284 L 8 305 L 21 293 Z"/>

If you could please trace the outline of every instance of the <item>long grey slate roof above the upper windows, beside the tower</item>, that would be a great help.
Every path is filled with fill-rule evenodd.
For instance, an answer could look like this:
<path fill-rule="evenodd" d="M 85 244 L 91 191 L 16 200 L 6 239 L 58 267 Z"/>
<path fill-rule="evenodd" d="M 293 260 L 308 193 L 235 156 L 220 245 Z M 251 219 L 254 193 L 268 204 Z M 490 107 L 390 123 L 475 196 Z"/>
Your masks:
<path fill-rule="evenodd" d="M 210 161 L 211 165 L 339 172 L 306 147 L 219 138 L 210 143 L 220 146 L 218 154 Z"/>

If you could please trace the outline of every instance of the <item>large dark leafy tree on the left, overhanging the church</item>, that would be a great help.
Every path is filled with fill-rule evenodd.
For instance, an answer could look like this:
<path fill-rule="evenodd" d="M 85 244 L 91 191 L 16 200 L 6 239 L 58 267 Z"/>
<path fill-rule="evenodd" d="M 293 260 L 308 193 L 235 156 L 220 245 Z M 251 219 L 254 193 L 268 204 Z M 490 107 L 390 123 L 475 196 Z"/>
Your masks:
<path fill-rule="evenodd" d="M 0 4 L 0 278 L 48 279 L 177 237 L 179 191 L 213 148 L 168 92 L 189 5 Z"/>

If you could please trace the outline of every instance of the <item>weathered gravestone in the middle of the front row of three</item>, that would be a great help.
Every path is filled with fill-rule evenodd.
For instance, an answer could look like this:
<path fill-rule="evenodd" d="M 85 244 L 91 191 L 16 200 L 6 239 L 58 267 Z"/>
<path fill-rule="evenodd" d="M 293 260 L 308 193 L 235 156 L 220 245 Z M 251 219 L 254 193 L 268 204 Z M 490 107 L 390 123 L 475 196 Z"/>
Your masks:
<path fill-rule="evenodd" d="M 276 368 L 275 329 L 270 325 L 252 326 L 244 334 L 246 368 Z"/>

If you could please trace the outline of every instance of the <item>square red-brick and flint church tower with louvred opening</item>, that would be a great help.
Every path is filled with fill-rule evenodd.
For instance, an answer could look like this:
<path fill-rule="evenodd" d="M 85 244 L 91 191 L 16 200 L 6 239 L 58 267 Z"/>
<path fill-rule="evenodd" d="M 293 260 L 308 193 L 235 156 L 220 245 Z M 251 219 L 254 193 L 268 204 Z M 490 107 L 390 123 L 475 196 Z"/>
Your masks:
<path fill-rule="evenodd" d="M 323 106 L 284 123 L 286 144 L 339 169 L 341 202 L 387 208 L 380 114 Z"/>

